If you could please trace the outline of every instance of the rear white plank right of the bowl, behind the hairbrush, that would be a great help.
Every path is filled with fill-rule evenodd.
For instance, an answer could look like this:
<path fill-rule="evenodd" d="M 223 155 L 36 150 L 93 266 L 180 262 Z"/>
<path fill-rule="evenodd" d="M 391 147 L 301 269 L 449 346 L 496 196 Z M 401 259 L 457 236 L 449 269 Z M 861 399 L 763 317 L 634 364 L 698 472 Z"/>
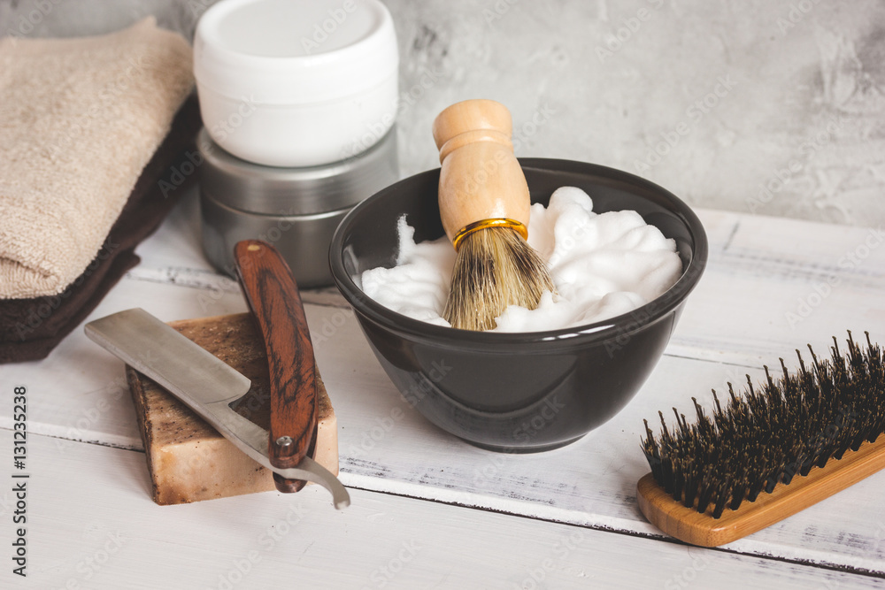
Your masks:
<path fill-rule="evenodd" d="M 668 352 L 761 366 L 831 336 L 885 342 L 885 230 L 700 211 L 710 262 Z M 821 350 L 823 352 L 823 350 Z"/>

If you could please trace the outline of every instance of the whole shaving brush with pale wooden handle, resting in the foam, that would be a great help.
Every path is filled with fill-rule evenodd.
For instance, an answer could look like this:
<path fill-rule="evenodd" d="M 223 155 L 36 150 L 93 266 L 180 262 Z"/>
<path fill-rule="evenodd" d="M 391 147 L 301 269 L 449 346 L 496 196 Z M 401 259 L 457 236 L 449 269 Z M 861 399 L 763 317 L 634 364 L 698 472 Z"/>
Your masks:
<path fill-rule="evenodd" d="M 534 310 L 556 290 L 526 241 L 531 201 L 511 133 L 510 111 L 491 100 L 452 104 L 434 121 L 440 217 L 458 253 L 443 318 L 456 328 L 489 330 L 508 305 Z"/>

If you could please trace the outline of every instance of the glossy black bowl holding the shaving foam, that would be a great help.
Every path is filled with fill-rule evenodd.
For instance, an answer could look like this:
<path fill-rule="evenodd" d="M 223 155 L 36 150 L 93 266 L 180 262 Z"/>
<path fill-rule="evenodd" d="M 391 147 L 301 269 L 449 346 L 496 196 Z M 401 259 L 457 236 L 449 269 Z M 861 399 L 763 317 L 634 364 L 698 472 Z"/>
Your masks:
<path fill-rule="evenodd" d="M 533 203 L 546 205 L 556 188 L 573 186 L 587 191 L 596 212 L 639 212 L 676 241 L 681 278 L 631 313 L 550 332 L 470 332 L 389 310 L 362 292 L 359 275 L 395 264 L 402 215 L 416 241 L 443 235 L 438 169 L 359 203 L 338 226 L 329 252 L 335 283 L 405 399 L 444 430 L 505 452 L 557 448 L 623 408 L 658 364 L 707 259 L 706 235 L 694 212 L 648 180 L 581 162 L 519 161 Z"/>

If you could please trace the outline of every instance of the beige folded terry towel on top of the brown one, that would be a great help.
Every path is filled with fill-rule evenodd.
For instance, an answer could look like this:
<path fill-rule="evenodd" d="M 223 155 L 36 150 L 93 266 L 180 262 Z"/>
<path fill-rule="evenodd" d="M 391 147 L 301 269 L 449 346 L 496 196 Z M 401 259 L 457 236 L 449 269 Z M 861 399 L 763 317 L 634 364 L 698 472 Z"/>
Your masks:
<path fill-rule="evenodd" d="M 0 40 L 0 298 L 57 295 L 101 249 L 193 86 L 180 35 L 144 19 Z"/>

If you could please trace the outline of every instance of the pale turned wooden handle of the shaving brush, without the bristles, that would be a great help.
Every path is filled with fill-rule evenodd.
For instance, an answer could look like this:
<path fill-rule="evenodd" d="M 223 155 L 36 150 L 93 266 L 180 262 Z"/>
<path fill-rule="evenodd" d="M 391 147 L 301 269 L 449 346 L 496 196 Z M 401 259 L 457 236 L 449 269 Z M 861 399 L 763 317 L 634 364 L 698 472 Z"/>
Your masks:
<path fill-rule="evenodd" d="M 452 104 L 433 126 L 440 150 L 440 217 L 452 240 L 484 219 L 509 218 L 528 226 L 531 199 L 511 142 L 510 111 L 491 100 Z"/>

